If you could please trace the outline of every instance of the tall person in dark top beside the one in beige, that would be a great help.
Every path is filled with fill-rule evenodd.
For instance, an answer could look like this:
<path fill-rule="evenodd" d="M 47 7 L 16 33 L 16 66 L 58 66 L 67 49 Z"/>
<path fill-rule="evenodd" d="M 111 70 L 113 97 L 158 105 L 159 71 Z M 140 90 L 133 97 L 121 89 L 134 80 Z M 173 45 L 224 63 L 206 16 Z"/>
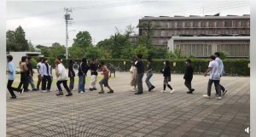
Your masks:
<path fill-rule="evenodd" d="M 143 76 L 144 76 L 144 65 L 143 65 L 143 54 L 137 54 L 137 62 L 135 66 L 137 67 L 137 93 L 143 94 Z"/>

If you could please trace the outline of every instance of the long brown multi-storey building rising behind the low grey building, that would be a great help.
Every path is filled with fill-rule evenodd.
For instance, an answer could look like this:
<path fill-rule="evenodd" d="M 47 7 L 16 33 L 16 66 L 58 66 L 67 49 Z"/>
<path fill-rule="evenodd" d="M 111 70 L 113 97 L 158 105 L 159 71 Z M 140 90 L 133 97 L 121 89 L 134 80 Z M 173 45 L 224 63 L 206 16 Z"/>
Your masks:
<path fill-rule="evenodd" d="M 227 15 L 207 15 L 189 17 L 183 16 L 160 16 L 143 17 L 139 23 L 150 23 L 154 28 L 154 34 L 151 37 L 154 45 L 166 47 L 168 41 L 175 36 L 201 36 L 201 35 L 250 35 L 250 15 L 241 16 Z M 147 31 L 139 27 L 139 35 Z M 133 41 L 137 39 L 133 37 Z"/>

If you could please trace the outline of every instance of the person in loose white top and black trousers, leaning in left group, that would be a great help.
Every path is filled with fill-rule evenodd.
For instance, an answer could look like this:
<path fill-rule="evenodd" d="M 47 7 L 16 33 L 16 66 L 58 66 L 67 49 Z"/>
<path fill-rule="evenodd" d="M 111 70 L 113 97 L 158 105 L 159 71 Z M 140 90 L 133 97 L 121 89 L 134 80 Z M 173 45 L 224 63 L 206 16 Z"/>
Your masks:
<path fill-rule="evenodd" d="M 60 60 L 55 60 L 55 66 L 57 66 L 57 71 L 56 71 L 56 77 L 57 77 L 57 87 L 59 89 L 59 93 L 56 94 L 58 95 L 63 95 L 62 88 L 61 88 L 61 83 L 63 84 L 63 87 L 67 90 L 66 96 L 72 96 L 72 92 L 70 89 L 67 87 L 67 78 L 68 74 L 66 71 L 66 68 L 61 64 Z"/>

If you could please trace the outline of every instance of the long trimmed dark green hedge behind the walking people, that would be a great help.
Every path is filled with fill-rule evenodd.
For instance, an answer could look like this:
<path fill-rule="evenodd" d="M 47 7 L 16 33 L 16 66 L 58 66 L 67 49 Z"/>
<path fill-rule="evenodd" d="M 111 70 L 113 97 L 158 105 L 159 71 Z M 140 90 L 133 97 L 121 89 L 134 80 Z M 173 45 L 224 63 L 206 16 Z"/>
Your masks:
<path fill-rule="evenodd" d="M 55 59 L 48 58 L 51 65 L 54 64 Z M 80 62 L 81 60 L 74 60 Z M 90 62 L 90 60 L 88 60 Z M 114 67 L 117 69 L 119 66 L 120 71 L 129 71 L 131 68 L 131 60 L 100 60 L 107 64 L 109 68 Z M 153 60 L 153 70 L 160 71 L 164 67 L 165 60 Z M 68 66 L 69 60 L 63 60 L 63 65 Z M 250 76 L 250 68 L 248 64 L 250 60 L 247 59 L 233 59 L 233 60 L 223 60 L 224 71 L 226 75 L 232 76 Z M 144 66 L 146 68 L 147 62 L 143 60 Z M 176 64 L 176 65 L 175 65 Z M 208 60 L 205 59 L 192 59 L 192 66 L 194 67 L 195 73 L 203 73 L 207 71 L 207 66 L 209 64 Z M 170 60 L 170 65 L 172 68 L 172 73 L 183 73 L 185 69 L 185 59 Z"/>

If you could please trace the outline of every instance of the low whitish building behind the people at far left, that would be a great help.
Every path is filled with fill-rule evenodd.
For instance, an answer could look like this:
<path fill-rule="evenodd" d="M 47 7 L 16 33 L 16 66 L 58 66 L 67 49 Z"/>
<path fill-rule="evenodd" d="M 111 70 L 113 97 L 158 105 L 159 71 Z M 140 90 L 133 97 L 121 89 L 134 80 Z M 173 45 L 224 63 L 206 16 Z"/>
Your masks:
<path fill-rule="evenodd" d="M 9 52 L 9 54 L 14 57 L 13 62 L 16 67 L 20 67 L 20 60 L 22 56 L 44 56 L 41 55 L 41 52 Z"/>

